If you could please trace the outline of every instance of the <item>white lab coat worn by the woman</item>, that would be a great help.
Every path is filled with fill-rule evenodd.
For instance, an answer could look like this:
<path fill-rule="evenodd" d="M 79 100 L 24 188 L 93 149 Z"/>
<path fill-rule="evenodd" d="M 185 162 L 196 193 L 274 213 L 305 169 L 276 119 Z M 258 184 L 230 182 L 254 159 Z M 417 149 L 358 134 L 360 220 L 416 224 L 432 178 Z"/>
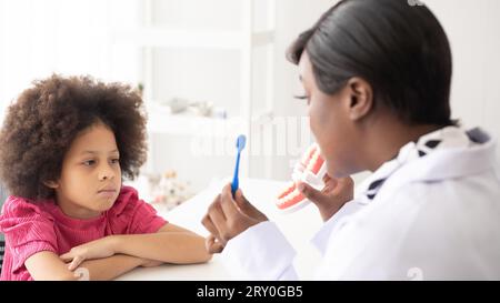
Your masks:
<path fill-rule="evenodd" d="M 317 277 L 500 280 L 496 142 L 473 135 L 480 143 L 398 166 L 372 201 L 359 192 L 384 165 L 363 182 L 312 240 L 323 256 Z M 239 279 L 296 280 L 294 254 L 278 228 L 263 222 L 229 241 L 222 260 Z"/>

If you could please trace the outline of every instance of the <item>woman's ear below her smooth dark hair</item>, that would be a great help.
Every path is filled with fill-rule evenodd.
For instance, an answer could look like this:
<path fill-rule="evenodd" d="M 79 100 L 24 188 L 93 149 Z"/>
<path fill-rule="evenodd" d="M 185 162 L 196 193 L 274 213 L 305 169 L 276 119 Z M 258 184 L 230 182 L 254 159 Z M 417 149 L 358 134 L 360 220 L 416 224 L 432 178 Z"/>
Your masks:
<path fill-rule="evenodd" d="M 351 78 L 348 81 L 350 93 L 349 117 L 351 120 L 360 120 L 373 108 L 373 91 L 370 83 L 361 78 Z"/>

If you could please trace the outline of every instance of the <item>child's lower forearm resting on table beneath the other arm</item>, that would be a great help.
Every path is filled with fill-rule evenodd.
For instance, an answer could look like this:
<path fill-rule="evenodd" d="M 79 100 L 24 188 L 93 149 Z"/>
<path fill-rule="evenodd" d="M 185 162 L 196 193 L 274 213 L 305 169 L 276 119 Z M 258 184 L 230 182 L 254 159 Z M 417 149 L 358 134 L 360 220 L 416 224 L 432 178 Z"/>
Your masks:
<path fill-rule="evenodd" d="M 77 280 L 112 280 L 142 265 L 143 262 L 141 257 L 126 254 L 88 260 L 74 271 L 74 276 Z"/>

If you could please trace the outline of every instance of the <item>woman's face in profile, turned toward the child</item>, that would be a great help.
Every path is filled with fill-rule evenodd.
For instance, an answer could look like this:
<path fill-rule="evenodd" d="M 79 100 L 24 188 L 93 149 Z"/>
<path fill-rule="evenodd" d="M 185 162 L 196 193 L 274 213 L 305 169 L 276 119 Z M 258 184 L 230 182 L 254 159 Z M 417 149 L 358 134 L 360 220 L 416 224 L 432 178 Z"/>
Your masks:
<path fill-rule="evenodd" d="M 358 171 L 354 125 L 349 119 L 349 89 L 342 88 L 332 95 L 322 92 L 306 51 L 299 62 L 299 72 L 308 100 L 309 123 L 327 161 L 328 174 L 343 178 Z"/>

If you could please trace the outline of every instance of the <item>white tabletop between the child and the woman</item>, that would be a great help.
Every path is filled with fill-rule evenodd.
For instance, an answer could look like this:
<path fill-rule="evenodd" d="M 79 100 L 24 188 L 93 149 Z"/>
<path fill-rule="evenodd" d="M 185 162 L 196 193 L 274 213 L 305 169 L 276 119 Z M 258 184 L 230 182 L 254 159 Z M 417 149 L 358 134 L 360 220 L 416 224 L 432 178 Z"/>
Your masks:
<path fill-rule="evenodd" d="M 213 201 L 227 182 L 217 182 L 189 201 L 161 214 L 169 222 L 187 228 L 201 235 L 208 235 L 201 224 L 209 204 Z M 294 261 L 296 269 L 301 279 L 312 279 L 313 267 L 319 260 L 319 253 L 310 245 L 310 239 L 322 224 L 317 209 L 309 204 L 296 213 L 280 213 L 274 206 L 278 193 L 286 186 L 286 182 L 272 180 L 246 179 L 240 181 L 247 199 L 276 222 L 290 243 L 296 248 L 298 255 Z M 138 267 L 117 280 L 231 280 L 222 264 L 221 256 L 216 254 L 204 264 L 171 265 L 157 267 Z"/>

